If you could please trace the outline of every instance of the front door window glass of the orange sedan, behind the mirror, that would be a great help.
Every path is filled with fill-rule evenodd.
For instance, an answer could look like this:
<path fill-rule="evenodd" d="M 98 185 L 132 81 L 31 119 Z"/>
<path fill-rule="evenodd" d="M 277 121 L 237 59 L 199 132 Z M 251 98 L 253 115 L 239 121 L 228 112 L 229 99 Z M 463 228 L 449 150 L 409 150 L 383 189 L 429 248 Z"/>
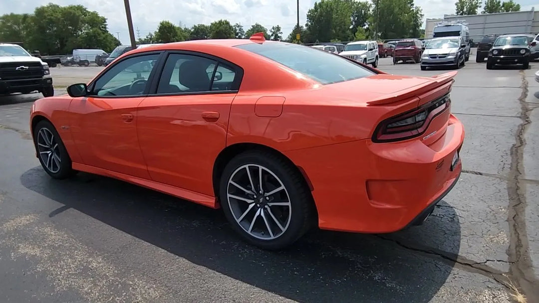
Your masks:
<path fill-rule="evenodd" d="M 159 54 L 141 55 L 119 62 L 95 82 L 91 95 L 141 95 L 158 57 Z"/>

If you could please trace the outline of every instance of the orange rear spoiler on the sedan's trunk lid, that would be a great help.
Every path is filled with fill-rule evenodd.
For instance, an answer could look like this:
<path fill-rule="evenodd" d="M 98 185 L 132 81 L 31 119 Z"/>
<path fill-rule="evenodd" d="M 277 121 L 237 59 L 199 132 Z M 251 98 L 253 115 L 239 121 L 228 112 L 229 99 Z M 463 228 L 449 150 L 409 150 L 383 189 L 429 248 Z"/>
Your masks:
<path fill-rule="evenodd" d="M 410 88 L 406 88 L 403 90 L 397 91 L 394 95 L 384 95 L 380 96 L 378 98 L 375 98 L 373 100 L 370 100 L 367 102 L 369 105 L 382 105 L 382 104 L 389 104 L 401 100 L 405 100 L 406 98 L 410 98 L 416 95 L 421 95 L 423 93 L 426 93 L 429 90 L 432 90 L 434 88 L 443 86 L 444 84 L 448 82 L 455 82 L 455 75 L 457 75 L 457 71 L 448 72 L 436 76 L 432 76 L 432 80 L 429 82 L 422 83 L 417 86 L 412 86 Z"/>

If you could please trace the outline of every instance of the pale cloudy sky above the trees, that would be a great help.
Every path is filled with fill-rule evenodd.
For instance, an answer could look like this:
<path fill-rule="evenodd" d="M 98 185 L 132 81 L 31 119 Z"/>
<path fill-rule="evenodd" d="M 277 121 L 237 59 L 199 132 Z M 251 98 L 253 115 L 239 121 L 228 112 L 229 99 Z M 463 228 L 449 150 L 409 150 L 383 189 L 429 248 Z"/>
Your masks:
<path fill-rule="evenodd" d="M 532 6 L 539 10 L 538 0 L 514 0 L 521 10 Z M 53 2 L 59 5 L 82 4 L 107 18 L 108 29 L 119 37 L 122 44 L 129 44 L 126 11 L 123 0 L 0 0 L 0 15 L 4 13 L 32 13 L 37 6 Z M 300 24 L 305 25 L 307 11 L 316 0 L 300 0 Z M 421 6 L 425 18 L 442 18 L 455 12 L 455 0 L 415 0 Z M 176 25 L 192 26 L 210 24 L 214 20 L 227 19 L 231 24 L 240 23 L 247 30 L 259 23 L 268 30 L 280 25 L 286 38 L 296 24 L 296 1 L 294 0 L 129 0 L 135 37 L 154 32 L 161 20 Z"/>

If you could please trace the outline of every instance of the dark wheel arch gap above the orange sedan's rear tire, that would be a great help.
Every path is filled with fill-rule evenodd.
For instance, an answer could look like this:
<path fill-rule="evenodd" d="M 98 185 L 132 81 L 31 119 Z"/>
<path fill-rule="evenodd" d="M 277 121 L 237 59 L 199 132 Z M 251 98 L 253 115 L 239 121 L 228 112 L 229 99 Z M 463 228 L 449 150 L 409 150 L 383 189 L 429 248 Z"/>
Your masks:
<path fill-rule="evenodd" d="M 218 154 L 215 162 L 213 163 L 212 185 L 213 185 L 213 193 L 215 194 L 217 198 L 219 197 L 220 177 L 223 174 L 226 164 L 229 163 L 229 161 L 232 160 L 232 158 L 236 157 L 238 154 L 245 151 L 252 151 L 252 150 L 271 152 L 277 155 L 278 157 L 281 157 L 289 165 L 294 167 L 294 170 L 296 170 L 296 172 L 301 174 L 302 180 L 304 182 L 303 185 L 309 188 L 309 192 L 312 192 L 314 190 L 313 185 L 310 182 L 309 177 L 307 176 L 307 173 L 305 172 L 305 170 L 303 170 L 303 168 L 301 168 L 300 166 L 295 165 L 291 159 L 285 156 L 285 154 L 281 153 L 278 150 L 273 149 L 272 147 L 258 144 L 258 143 L 236 143 L 236 144 L 232 144 L 230 146 L 225 147 L 225 149 L 223 149 Z M 311 194 L 311 197 L 312 197 L 312 194 Z M 316 205 L 314 205 L 314 208 L 316 209 Z M 317 213 L 316 213 L 316 216 L 317 216 Z"/>

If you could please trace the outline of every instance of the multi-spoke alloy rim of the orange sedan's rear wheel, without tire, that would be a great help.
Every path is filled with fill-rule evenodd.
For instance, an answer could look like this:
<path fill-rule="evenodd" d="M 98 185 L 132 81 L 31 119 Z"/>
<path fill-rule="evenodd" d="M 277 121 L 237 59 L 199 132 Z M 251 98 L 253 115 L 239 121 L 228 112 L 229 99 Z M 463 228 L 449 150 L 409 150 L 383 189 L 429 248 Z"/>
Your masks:
<path fill-rule="evenodd" d="M 252 237 L 273 240 L 288 229 L 290 196 L 277 175 L 264 166 L 237 168 L 229 179 L 226 199 L 236 223 Z"/>

